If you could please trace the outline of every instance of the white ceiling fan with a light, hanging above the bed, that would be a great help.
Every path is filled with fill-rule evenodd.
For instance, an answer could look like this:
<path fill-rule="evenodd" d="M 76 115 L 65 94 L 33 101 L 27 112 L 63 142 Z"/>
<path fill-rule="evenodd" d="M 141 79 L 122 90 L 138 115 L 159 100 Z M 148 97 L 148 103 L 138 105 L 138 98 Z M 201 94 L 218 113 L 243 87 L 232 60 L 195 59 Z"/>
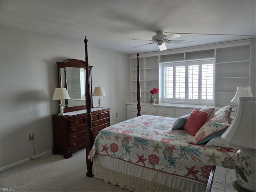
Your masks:
<path fill-rule="evenodd" d="M 170 33 L 170 35 L 166 35 L 164 33 Z M 237 35 L 237 34 L 209 34 L 209 33 L 171 33 L 171 32 L 164 32 L 162 30 L 156 31 L 156 35 L 152 36 L 152 40 L 144 40 L 144 39 L 132 39 L 132 40 L 141 40 L 141 41 L 151 41 L 151 43 L 147 43 L 144 45 L 148 44 L 154 44 L 157 43 L 160 51 L 166 50 L 167 47 L 164 43 L 175 43 L 175 44 L 187 44 L 190 45 L 194 41 L 184 41 L 184 40 L 173 40 L 174 38 L 182 36 L 181 34 L 193 34 L 193 35 L 235 35 L 235 36 L 248 36 L 248 35 Z M 144 46 L 140 45 L 140 46 Z M 140 47 L 136 46 L 136 47 Z M 133 48 L 136 48 L 133 47 Z"/>

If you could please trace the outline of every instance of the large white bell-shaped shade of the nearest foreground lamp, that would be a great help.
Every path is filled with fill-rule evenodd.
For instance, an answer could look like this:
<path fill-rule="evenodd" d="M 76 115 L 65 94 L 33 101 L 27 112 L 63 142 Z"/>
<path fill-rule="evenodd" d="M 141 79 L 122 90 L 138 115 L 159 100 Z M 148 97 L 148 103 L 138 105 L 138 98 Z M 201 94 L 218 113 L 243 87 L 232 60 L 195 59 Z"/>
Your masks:
<path fill-rule="evenodd" d="M 240 97 L 234 119 L 222 138 L 229 143 L 255 150 L 255 97 Z"/>

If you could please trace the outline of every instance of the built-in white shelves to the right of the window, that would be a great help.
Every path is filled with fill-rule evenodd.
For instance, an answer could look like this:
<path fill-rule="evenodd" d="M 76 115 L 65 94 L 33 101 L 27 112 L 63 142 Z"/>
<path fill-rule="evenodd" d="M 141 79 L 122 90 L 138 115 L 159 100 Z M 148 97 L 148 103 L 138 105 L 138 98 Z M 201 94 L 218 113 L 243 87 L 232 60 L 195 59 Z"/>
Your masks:
<path fill-rule="evenodd" d="M 215 105 L 226 105 L 238 86 L 249 86 L 249 74 L 250 44 L 216 49 Z"/>

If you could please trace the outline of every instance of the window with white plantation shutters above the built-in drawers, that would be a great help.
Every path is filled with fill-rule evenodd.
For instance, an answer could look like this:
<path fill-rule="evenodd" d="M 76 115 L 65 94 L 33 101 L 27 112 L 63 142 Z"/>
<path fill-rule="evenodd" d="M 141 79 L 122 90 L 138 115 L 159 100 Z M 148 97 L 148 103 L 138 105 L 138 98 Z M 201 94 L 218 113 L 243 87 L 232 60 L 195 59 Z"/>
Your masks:
<path fill-rule="evenodd" d="M 215 59 L 162 65 L 163 102 L 214 104 Z"/>

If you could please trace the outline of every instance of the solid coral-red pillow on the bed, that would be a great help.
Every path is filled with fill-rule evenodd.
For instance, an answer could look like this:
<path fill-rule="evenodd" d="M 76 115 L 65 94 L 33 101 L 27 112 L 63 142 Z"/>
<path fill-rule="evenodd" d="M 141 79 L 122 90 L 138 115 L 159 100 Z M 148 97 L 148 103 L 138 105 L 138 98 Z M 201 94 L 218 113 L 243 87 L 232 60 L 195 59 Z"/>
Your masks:
<path fill-rule="evenodd" d="M 207 112 L 202 112 L 198 109 L 193 110 L 184 124 L 184 130 L 195 136 L 196 132 L 202 127 L 207 117 Z"/>

